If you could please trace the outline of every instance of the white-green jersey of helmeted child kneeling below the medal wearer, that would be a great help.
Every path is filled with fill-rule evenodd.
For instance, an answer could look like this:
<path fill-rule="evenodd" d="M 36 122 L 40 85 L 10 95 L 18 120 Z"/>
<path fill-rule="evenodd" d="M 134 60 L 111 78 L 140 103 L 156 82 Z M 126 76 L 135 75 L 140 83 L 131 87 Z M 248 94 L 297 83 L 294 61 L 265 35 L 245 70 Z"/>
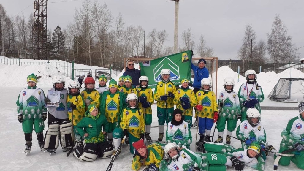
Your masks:
<path fill-rule="evenodd" d="M 262 123 L 257 124 L 257 126 L 252 127 L 248 120 L 244 120 L 237 127 L 237 137 L 245 141 L 248 138 L 251 142 L 258 142 L 259 144 L 265 145 L 266 143 L 266 133 Z M 242 142 L 243 148 L 247 148 L 246 143 Z"/>

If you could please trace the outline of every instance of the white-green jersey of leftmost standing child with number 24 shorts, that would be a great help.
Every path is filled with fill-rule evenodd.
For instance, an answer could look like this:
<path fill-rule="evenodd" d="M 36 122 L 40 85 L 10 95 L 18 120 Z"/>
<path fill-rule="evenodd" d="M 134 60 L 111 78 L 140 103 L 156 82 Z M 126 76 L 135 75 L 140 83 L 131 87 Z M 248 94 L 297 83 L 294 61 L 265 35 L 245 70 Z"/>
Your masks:
<path fill-rule="evenodd" d="M 21 90 L 16 102 L 18 115 L 23 114 L 23 120 L 42 118 L 42 114 L 47 113 L 44 99 L 45 95 L 42 89 L 36 86 L 27 86 Z"/>

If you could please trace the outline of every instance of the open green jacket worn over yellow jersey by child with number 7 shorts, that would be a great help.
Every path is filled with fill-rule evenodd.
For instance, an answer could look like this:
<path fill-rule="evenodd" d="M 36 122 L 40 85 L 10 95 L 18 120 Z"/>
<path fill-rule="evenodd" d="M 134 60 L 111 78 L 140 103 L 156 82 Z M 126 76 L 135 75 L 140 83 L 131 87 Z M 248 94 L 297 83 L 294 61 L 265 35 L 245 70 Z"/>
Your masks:
<path fill-rule="evenodd" d="M 116 91 L 115 94 L 119 93 L 119 116 L 118 116 L 118 122 L 121 121 L 121 117 L 122 117 L 122 113 L 123 113 L 123 109 L 125 109 L 127 107 L 127 102 L 126 102 L 126 96 L 124 95 L 123 92 Z M 102 114 L 103 116 L 105 116 L 105 102 L 106 102 L 106 97 L 107 95 L 112 95 L 112 93 L 109 91 L 106 91 L 103 93 L 102 98 L 100 98 L 100 106 L 99 106 L 99 111 L 100 114 Z M 113 94 L 114 95 L 114 94 Z"/>

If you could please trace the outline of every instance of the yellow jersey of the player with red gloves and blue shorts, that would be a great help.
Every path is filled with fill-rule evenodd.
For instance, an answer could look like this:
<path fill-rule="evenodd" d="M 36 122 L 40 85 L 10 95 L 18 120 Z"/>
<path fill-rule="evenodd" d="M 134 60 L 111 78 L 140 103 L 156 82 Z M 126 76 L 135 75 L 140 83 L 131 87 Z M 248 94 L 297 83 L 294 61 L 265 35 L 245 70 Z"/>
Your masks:
<path fill-rule="evenodd" d="M 214 112 L 218 112 L 216 103 L 216 94 L 213 91 L 205 92 L 200 89 L 195 94 L 197 98 L 197 105 L 202 105 L 203 110 L 196 110 L 195 116 L 207 117 L 213 119 Z"/>

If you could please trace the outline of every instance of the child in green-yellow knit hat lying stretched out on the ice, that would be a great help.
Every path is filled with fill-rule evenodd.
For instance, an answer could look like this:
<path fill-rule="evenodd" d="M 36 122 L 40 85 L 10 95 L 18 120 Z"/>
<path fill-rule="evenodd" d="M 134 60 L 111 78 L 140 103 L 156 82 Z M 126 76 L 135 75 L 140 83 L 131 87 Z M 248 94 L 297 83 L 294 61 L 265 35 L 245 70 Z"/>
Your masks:
<path fill-rule="evenodd" d="M 228 157 L 231 160 L 227 161 L 227 166 L 234 166 L 236 170 L 243 170 L 244 165 L 252 167 L 257 170 L 264 170 L 265 161 L 260 155 L 261 146 L 257 142 L 250 144 L 248 149 L 246 148 L 234 148 L 231 145 L 207 142 L 205 144 L 206 152 L 220 153 Z"/>

